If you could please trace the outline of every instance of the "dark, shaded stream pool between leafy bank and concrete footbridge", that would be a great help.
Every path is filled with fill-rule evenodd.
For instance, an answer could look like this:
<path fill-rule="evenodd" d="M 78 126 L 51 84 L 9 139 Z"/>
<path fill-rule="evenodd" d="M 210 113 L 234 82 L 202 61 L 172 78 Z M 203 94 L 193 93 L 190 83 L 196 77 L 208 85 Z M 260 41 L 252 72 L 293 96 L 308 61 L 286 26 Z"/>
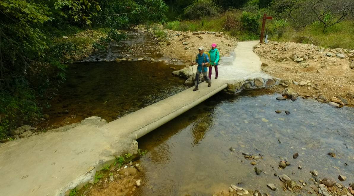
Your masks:
<path fill-rule="evenodd" d="M 182 68 L 176 66 L 177 68 Z M 67 80 L 44 114 L 62 126 L 99 116 L 113 121 L 187 89 L 164 62 L 85 62 L 70 65 Z"/>

